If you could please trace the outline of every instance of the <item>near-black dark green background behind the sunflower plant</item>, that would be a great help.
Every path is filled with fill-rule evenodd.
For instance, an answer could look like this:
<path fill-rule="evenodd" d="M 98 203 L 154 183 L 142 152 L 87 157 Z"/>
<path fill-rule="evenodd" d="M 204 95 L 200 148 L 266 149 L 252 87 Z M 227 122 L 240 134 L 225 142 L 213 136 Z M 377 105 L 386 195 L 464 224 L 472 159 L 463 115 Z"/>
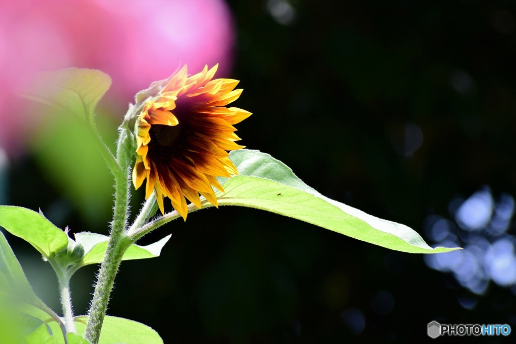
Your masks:
<path fill-rule="evenodd" d="M 284 161 L 330 198 L 427 240 L 424 219 L 449 218 L 455 196 L 483 185 L 495 197 L 516 194 L 516 3 L 291 4 L 296 18 L 285 26 L 265 2 L 229 1 L 237 34 L 231 77 L 245 89 L 235 106 L 254 113 L 238 125 L 242 144 Z M 407 123 L 423 133 L 412 156 L 397 149 Z M 61 215 L 49 216 L 58 226 L 106 233 L 108 212 L 81 220 L 37 166 L 31 156 L 11 166 L 9 204 L 51 215 L 58 207 Z M 134 196 L 135 207 L 141 198 Z M 207 209 L 142 242 L 169 233 L 161 257 L 122 264 L 108 311 L 152 326 L 166 343 L 413 343 L 430 340 L 426 324 L 434 319 L 516 330 L 510 289 L 491 283 L 476 297 L 421 255 L 296 220 Z M 50 267 L 9 240 L 36 291 L 59 309 Z M 96 268 L 83 270 L 72 280 L 79 314 Z M 394 299 L 388 314 L 372 306 L 379 291 Z M 475 308 L 458 298 L 476 299 Z M 358 335 L 341 317 L 349 308 L 365 317 Z"/>

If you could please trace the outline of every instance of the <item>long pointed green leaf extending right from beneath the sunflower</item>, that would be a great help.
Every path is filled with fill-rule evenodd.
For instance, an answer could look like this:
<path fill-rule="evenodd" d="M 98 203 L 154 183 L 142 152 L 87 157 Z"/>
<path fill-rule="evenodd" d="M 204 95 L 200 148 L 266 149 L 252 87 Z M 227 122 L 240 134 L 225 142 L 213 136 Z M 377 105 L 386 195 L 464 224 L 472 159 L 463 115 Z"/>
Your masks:
<path fill-rule="evenodd" d="M 221 178 L 225 192 L 220 205 L 239 205 L 276 212 L 355 239 L 409 253 L 440 253 L 458 248 L 432 249 L 406 225 L 382 220 L 331 200 L 304 184 L 283 162 L 252 150 L 233 151 L 239 175 Z"/>

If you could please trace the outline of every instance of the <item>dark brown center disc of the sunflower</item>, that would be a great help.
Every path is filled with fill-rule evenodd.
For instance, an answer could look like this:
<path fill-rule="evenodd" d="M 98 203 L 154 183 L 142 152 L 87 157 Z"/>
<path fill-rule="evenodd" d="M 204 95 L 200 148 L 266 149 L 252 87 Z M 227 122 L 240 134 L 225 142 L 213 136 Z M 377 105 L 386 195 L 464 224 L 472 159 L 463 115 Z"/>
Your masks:
<path fill-rule="evenodd" d="M 185 124 L 153 124 L 149 130 L 149 158 L 155 163 L 168 163 L 173 157 L 184 152 L 187 145 L 188 130 Z"/>

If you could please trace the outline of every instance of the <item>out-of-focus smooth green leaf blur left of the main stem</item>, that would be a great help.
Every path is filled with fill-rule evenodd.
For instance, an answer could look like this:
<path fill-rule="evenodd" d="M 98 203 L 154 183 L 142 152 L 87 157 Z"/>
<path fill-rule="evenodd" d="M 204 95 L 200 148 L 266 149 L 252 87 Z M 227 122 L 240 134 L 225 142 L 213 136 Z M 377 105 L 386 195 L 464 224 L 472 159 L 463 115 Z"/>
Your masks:
<path fill-rule="evenodd" d="M 114 126 L 98 116 L 96 124 L 106 132 L 106 142 Z M 102 128 L 104 126 L 104 128 Z M 98 138 L 83 121 L 55 113 L 31 137 L 33 151 L 41 173 L 72 203 L 89 227 L 104 225 L 112 205 L 113 179 L 106 162 L 95 149 Z"/>

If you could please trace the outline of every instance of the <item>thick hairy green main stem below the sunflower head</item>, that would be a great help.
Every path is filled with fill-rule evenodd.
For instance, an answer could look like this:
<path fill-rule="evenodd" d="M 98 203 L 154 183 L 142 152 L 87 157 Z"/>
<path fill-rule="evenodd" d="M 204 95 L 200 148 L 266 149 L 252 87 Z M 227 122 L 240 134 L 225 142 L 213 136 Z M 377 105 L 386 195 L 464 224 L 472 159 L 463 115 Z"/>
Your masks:
<path fill-rule="evenodd" d="M 109 302 L 111 290 L 113 289 L 115 276 L 118 272 L 122 256 L 125 250 L 127 250 L 127 247 L 131 244 L 124 234 L 127 222 L 127 205 L 129 201 L 128 165 L 130 163 L 131 155 L 127 152 L 127 145 L 130 145 L 130 142 L 128 142 L 128 134 L 124 128 L 121 127 L 119 132 L 120 137 L 118 139 L 117 147 L 117 162 L 120 166 L 120 170 L 118 172 L 114 172 L 115 211 L 106 254 L 99 270 L 95 290 L 93 291 L 93 298 L 88 312 L 88 323 L 86 325 L 85 333 L 85 338 L 93 344 L 98 344 L 99 342 L 102 323 L 104 322 L 104 317 L 106 315 L 107 304 Z"/>

